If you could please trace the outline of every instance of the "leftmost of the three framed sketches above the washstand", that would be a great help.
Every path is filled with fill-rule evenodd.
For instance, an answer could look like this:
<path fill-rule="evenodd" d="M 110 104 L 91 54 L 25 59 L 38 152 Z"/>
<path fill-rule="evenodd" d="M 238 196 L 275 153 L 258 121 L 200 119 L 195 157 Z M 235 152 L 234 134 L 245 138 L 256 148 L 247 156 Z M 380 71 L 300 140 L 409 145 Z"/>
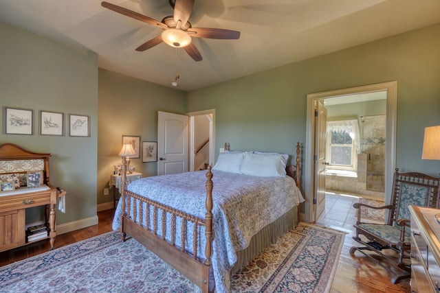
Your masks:
<path fill-rule="evenodd" d="M 5 107 L 3 116 L 5 134 L 34 134 L 34 110 Z"/>

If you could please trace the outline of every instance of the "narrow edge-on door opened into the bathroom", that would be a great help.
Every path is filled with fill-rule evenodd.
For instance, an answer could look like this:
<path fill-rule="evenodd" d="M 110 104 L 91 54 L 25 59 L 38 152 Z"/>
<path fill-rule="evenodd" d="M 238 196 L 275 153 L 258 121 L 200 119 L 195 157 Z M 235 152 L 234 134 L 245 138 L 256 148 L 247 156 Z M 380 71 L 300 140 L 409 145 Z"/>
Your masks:
<path fill-rule="evenodd" d="M 327 108 L 322 100 L 316 103 L 316 132 L 315 132 L 315 184 L 314 184 L 314 206 L 315 221 L 318 220 L 325 209 L 325 146 L 327 143 Z"/>

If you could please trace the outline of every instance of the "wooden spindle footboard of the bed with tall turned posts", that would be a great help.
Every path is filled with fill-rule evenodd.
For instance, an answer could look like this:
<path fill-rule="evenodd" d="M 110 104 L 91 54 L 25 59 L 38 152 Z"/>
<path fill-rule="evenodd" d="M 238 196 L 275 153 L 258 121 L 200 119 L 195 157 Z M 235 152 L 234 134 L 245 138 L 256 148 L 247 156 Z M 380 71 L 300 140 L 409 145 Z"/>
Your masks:
<path fill-rule="evenodd" d="M 124 170 L 122 170 L 122 174 L 124 174 Z M 184 274 L 192 283 L 201 288 L 201 292 L 208 292 L 210 287 L 213 187 L 210 167 L 206 173 L 206 178 L 205 220 L 126 191 L 124 186 L 121 195 L 120 231 L 122 240 L 124 241 L 126 234 L 129 234 L 155 253 L 157 257 Z M 124 182 L 124 178 L 122 178 L 122 182 Z M 170 226 L 166 225 L 167 218 L 168 222 L 171 223 Z M 136 221 L 136 219 L 140 220 Z M 192 223 L 192 231 L 187 231 L 188 223 Z M 200 227 L 204 227 L 204 237 L 206 238 L 204 257 L 197 255 L 197 247 L 202 243 L 199 237 L 203 237 L 203 235 L 197 233 Z M 177 233 L 181 235 L 180 241 L 177 241 Z M 192 233 L 192 250 L 187 249 L 185 245 L 186 240 L 190 239 L 188 237 L 189 233 Z M 188 251 L 192 251 L 192 253 Z M 211 284 L 211 287 L 214 287 L 213 284 Z"/>

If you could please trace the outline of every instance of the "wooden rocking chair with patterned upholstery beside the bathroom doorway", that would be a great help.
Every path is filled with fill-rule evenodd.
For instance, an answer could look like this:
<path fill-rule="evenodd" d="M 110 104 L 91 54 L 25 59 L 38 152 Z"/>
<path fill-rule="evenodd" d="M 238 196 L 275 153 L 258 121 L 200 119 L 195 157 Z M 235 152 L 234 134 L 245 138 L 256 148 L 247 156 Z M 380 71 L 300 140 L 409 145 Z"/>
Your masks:
<path fill-rule="evenodd" d="M 417 205 L 438 209 L 440 198 L 439 180 L 440 178 L 416 172 L 399 173 L 399 169 L 396 169 L 391 204 L 383 207 L 371 207 L 368 204 L 359 202 L 353 204 L 353 207 L 358 209 L 358 220 L 354 225 L 356 235 L 353 239 L 362 246 L 353 246 L 350 253 L 354 254 L 355 251 L 359 251 L 373 259 L 393 275 L 391 279 L 393 284 L 410 277 L 410 211 L 408 207 Z M 362 222 L 360 207 L 365 209 L 388 209 L 386 222 L 384 224 Z M 373 253 L 366 253 L 364 250 Z M 394 250 L 395 253 L 385 253 L 385 251 L 391 250 Z M 392 266 L 389 266 L 389 264 Z M 399 270 L 397 272 L 392 270 L 391 268 L 394 267 L 399 268 Z"/>

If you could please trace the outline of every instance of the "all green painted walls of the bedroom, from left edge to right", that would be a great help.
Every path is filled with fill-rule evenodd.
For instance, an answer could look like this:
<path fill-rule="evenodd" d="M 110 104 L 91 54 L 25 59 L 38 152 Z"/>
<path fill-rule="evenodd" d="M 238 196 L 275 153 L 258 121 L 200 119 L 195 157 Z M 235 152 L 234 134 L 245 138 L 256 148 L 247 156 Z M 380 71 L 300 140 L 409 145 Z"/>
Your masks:
<path fill-rule="evenodd" d="M 113 201 L 103 189 L 120 162 L 122 135 L 155 141 L 157 110 L 215 108 L 216 152 L 228 142 L 232 150 L 294 154 L 297 141 L 307 147 L 308 93 L 397 80 L 397 167 L 438 176 L 440 162 L 420 158 L 423 128 L 440 125 L 439 36 L 440 24 L 432 25 L 184 93 L 98 70 L 94 52 L 0 23 L 0 106 L 35 111 L 34 135 L 2 132 L 0 143 L 52 153 L 51 182 L 68 195 L 63 224 L 93 218 L 97 203 Z M 39 110 L 89 115 L 91 137 L 39 135 Z M 132 164 L 156 174 L 155 163 Z"/>

